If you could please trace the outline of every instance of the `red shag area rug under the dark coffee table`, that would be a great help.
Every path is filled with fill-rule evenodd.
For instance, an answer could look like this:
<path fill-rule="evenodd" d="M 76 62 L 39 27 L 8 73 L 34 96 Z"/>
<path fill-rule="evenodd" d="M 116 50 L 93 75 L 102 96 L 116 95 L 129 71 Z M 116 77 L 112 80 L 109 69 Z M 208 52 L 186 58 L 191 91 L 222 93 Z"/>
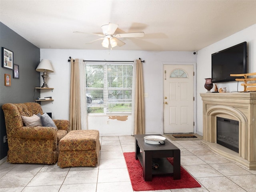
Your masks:
<path fill-rule="evenodd" d="M 180 166 L 180 180 L 173 180 L 172 176 L 154 175 L 152 181 L 144 181 L 142 175 L 142 166 L 139 160 L 135 159 L 134 152 L 124 153 L 126 165 L 134 191 L 149 191 L 149 190 L 166 190 L 180 188 L 195 188 L 201 185 L 182 167 Z M 173 158 L 167 158 L 173 164 Z"/>

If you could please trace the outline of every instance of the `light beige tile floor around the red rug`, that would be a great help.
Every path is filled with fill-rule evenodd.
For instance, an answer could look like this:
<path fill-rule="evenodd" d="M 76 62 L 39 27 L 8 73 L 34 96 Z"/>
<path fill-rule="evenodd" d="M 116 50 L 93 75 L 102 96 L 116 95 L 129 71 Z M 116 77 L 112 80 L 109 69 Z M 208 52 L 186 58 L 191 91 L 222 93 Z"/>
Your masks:
<path fill-rule="evenodd" d="M 100 142 L 96 167 L 4 162 L 0 165 L 0 192 L 133 192 L 123 152 L 134 152 L 134 137 L 100 137 Z M 181 165 L 202 187 L 154 192 L 256 192 L 256 170 L 214 154 L 200 140 L 171 142 L 181 150 Z"/>

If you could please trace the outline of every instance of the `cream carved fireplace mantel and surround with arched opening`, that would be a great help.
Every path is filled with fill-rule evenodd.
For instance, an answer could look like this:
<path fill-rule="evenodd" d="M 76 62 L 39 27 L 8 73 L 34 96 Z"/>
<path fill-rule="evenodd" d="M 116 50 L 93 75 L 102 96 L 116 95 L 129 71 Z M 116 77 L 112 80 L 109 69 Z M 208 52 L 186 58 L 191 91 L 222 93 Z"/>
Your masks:
<path fill-rule="evenodd" d="M 203 100 L 203 140 L 210 150 L 256 169 L 256 92 L 200 93 Z M 216 143 L 216 117 L 239 122 L 239 153 Z"/>

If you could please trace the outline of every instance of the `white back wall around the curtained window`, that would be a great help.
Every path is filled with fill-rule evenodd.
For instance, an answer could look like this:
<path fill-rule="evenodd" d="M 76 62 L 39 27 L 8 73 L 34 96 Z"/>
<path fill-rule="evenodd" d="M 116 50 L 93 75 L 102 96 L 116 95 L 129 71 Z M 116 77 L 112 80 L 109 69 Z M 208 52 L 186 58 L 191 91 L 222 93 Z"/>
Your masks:
<path fill-rule="evenodd" d="M 193 52 L 118 51 L 110 50 L 58 50 L 41 49 L 40 58 L 52 61 L 54 73 L 48 73 L 47 84 L 53 92 L 42 90 L 41 96 L 52 96 L 54 101 L 42 102 L 44 112 L 52 112 L 54 119 L 69 119 L 70 62 L 72 58 L 84 60 L 145 60 L 143 64 L 146 134 L 163 133 L 163 64 L 170 62 L 196 62 Z M 41 78 L 42 84 L 42 78 Z M 108 116 L 88 118 L 89 129 L 98 129 L 101 136 L 130 135 L 132 120 L 109 120 Z"/>

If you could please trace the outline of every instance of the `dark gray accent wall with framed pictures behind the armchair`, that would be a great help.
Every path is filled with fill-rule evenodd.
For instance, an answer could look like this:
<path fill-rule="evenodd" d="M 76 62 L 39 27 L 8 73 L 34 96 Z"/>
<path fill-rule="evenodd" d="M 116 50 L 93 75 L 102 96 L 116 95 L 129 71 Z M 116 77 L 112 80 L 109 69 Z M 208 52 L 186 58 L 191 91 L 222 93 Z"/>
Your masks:
<path fill-rule="evenodd" d="M 6 127 L 2 105 L 5 103 L 35 102 L 40 92 L 40 49 L 0 22 L 0 160 L 7 156 L 8 145 L 4 143 Z M 13 62 L 19 65 L 19 79 L 13 78 L 13 71 L 2 67 L 2 47 L 13 52 Z M 4 74 L 11 75 L 11 86 L 4 86 Z"/>

